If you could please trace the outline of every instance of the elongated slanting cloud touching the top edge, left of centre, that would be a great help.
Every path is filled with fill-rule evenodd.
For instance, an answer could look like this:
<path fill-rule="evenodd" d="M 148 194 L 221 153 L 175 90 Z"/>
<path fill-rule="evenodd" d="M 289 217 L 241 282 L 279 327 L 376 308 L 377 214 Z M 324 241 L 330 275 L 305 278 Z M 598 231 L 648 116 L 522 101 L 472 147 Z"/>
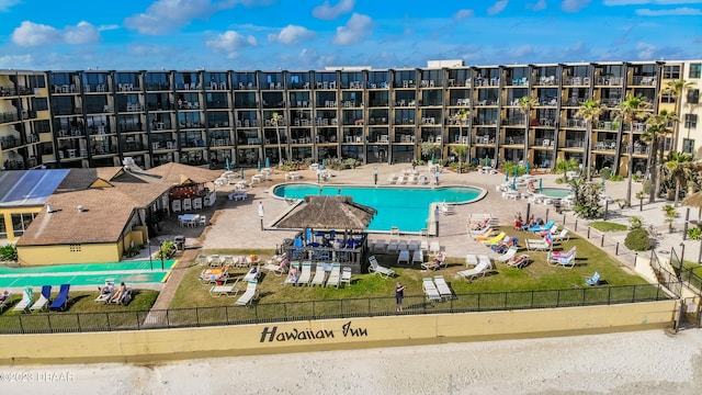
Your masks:
<path fill-rule="evenodd" d="M 227 10 L 237 4 L 263 5 L 268 0 L 157 0 L 146 12 L 124 20 L 127 29 L 141 34 L 168 34 L 190 24 L 193 20 L 206 20 L 217 11 Z"/>

